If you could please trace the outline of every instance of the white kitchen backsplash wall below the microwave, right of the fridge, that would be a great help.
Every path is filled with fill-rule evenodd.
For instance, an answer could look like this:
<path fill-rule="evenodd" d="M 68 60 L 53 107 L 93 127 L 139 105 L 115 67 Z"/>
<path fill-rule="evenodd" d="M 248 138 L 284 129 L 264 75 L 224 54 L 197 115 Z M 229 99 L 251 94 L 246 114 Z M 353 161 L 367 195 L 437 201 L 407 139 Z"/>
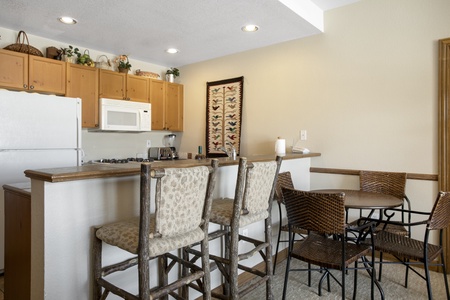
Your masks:
<path fill-rule="evenodd" d="M 81 144 L 84 151 L 83 162 L 101 158 L 129 158 L 143 155 L 147 158 L 147 140 L 152 147 L 164 146 L 164 136 L 170 131 L 151 131 L 141 133 L 92 132 L 82 130 Z M 182 133 L 177 136 L 175 147 L 179 147 Z"/>

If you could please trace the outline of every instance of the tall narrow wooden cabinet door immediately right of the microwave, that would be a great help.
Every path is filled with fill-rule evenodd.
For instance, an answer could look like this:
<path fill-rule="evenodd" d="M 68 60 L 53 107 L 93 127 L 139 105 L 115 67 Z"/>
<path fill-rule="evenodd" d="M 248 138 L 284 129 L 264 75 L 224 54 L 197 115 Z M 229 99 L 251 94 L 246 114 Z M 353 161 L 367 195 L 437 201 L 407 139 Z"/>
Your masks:
<path fill-rule="evenodd" d="M 152 104 L 152 130 L 164 130 L 165 84 L 162 80 L 149 79 L 150 103 Z"/>

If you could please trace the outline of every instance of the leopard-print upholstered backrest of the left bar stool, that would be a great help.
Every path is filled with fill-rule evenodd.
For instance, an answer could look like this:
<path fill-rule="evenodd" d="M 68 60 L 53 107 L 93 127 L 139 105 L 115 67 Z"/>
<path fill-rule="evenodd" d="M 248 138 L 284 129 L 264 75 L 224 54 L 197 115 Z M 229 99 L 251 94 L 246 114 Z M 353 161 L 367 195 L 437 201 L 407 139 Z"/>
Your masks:
<path fill-rule="evenodd" d="M 155 234 L 182 235 L 203 222 L 209 169 L 171 168 L 156 176 Z"/>

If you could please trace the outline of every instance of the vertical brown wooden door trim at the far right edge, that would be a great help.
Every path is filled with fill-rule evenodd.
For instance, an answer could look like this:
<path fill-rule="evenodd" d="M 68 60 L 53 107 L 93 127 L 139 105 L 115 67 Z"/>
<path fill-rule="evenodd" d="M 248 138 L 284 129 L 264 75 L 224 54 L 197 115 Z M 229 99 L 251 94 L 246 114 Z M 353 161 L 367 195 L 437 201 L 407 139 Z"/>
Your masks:
<path fill-rule="evenodd" d="M 439 74 L 438 74 L 438 172 L 439 190 L 450 189 L 450 121 L 449 121 L 449 98 L 450 98 L 450 38 L 439 41 Z M 445 260 L 450 261 L 450 230 L 444 233 Z M 448 268 L 447 268 L 448 270 Z M 448 273 L 449 271 L 447 271 Z"/>

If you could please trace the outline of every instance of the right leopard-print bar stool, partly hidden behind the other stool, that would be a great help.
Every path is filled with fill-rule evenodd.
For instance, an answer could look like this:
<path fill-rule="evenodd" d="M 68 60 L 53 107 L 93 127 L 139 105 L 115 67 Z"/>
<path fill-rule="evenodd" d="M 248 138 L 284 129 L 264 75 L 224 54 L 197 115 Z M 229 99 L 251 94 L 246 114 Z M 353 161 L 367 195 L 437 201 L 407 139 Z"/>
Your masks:
<path fill-rule="evenodd" d="M 221 238 L 225 244 L 223 256 L 210 254 L 224 278 L 223 293 L 212 293 L 216 298 L 237 300 L 265 282 L 266 299 L 273 299 L 271 208 L 281 160 L 277 157 L 274 161 L 247 165 L 247 159 L 241 157 L 234 199 L 213 200 L 211 222 L 221 225 L 222 229 L 210 233 L 210 240 Z M 239 234 L 239 228 L 259 221 L 264 223 L 263 241 Z M 251 244 L 252 249 L 239 253 L 239 242 Z M 260 253 L 265 262 L 264 271 L 240 264 L 256 253 Z M 239 269 L 256 277 L 239 286 Z"/>

